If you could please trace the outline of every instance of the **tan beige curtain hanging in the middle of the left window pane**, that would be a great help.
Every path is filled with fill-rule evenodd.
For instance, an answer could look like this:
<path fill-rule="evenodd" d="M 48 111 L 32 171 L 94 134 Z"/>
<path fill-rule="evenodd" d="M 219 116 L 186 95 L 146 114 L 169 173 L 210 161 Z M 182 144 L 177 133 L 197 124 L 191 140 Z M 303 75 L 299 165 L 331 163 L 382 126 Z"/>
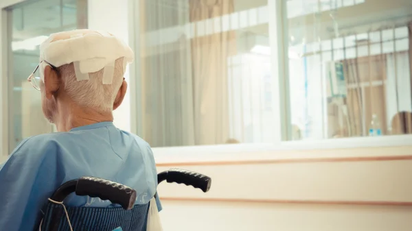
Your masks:
<path fill-rule="evenodd" d="M 196 145 L 229 140 L 228 58 L 235 52 L 233 31 L 207 34 L 200 21 L 234 11 L 233 0 L 190 0 L 194 137 Z"/>

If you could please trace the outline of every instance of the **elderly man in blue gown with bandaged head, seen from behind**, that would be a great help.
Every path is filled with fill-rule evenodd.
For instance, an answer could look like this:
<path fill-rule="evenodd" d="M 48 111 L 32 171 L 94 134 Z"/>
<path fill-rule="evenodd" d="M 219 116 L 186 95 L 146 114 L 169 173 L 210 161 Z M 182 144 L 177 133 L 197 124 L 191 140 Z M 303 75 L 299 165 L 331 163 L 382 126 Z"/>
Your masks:
<path fill-rule="evenodd" d="M 112 123 L 133 51 L 115 36 L 91 30 L 52 34 L 40 50 L 28 80 L 40 90 L 43 113 L 58 132 L 25 139 L 0 166 L 0 230 L 33 230 L 54 190 L 84 175 L 126 184 L 137 190 L 136 204 L 148 203 L 157 187 L 150 146 Z M 65 204 L 115 206 L 76 195 Z"/>

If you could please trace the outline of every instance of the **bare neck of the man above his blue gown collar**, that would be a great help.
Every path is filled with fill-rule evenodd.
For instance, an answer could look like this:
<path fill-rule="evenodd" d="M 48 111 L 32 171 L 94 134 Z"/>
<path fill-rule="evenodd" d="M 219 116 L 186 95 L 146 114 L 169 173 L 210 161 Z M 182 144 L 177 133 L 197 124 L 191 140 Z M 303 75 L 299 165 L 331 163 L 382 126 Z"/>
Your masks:
<path fill-rule="evenodd" d="M 112 112 L 98 112 L 92 108 L 82 108 L 76 104 L 70 104 L 70 106 L 58 104 L 54 119 L 58 132 L 68 132 L 74 127 L 106 121 L 113 121 Z"/>

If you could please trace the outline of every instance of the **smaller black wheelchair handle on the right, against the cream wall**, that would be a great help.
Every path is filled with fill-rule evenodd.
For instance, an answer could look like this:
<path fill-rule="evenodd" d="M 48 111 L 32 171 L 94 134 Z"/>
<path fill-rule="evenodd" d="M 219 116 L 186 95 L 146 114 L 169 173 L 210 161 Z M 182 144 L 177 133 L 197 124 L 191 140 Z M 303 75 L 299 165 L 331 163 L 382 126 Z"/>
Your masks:
<path fill-rule="evenodd" d="M 204 193 L 209 191 L 211 186 L 211 178 L 201 173 L 187 171 L 184 169 L 170 169 L 163 171 L 157 175 L 157 183 L 160 184 L 166 180 L 168 183 L 186 184 L 193 186 L 196 189 L 201 189 Z"/>

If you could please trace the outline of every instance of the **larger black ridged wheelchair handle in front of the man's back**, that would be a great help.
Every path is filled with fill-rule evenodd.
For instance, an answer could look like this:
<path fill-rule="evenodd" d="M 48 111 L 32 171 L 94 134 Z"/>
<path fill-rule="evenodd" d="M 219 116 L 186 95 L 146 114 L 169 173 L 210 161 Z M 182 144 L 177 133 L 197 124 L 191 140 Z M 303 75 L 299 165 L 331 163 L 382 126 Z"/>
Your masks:
<path fill-rule="evenodd" d="M 134 189 L 110 180 L 89 176 L 62 184 L 50 199 L 62 202 L 71 193 L 76 193 L 79 196 L 99 197 L 102 200 L 108 199 L 113 204 L 119 204 L 126 210 L 132 209 L 136 201 L 136 191 Z"/>

